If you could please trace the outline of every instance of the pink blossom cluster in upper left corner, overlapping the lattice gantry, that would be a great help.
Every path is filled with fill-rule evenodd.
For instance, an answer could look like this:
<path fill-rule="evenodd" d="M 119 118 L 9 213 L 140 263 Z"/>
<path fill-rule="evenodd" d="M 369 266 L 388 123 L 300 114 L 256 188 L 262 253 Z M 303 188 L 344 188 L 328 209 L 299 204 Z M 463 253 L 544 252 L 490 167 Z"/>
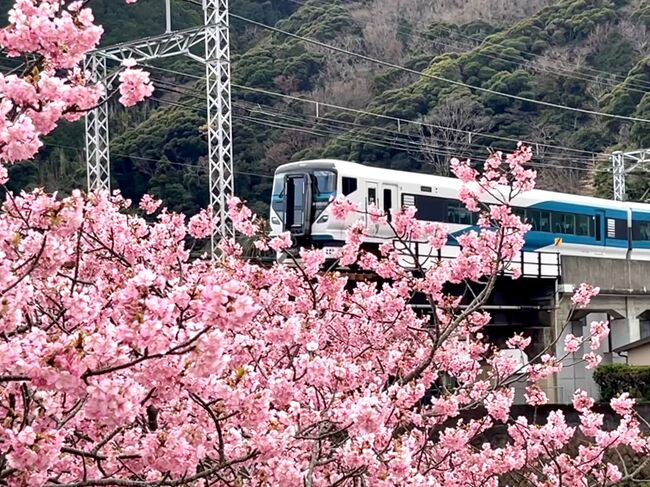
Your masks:
<path fill-rule="evenodd" d="M 7 180 L 6 165 L 33 157 L 42 137 L 61 119 L 78 120 L 108 95 L 106 87 L 91 83 L 90 73 L 81 68 L 103 33 L 84 5 L 16 0 L 9 25 L 0 29 L 0 47 L 9 57 L 25 60 L 20 68 L 24 74 L 0 74 L 0 184 Z M 153 91 L 141 70 L 127 68 L 120 82 L 120 102 L 127 106 Z"/>

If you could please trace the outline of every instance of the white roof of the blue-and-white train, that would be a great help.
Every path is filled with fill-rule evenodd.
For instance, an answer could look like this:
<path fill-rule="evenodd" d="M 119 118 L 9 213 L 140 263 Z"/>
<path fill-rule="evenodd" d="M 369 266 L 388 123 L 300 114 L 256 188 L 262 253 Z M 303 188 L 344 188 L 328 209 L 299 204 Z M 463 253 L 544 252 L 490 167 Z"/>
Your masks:
<path fill-rule="evenodd" d="M 290 162 L 282 164 L 276 169 L 276 173 L 284 173 L 291 170 L 304 168 L 306 165 L 317 166 L 322 169 L 347 169 L 351 173 L 358 174 L 359 177 L 375 177 L 379 179 L 388 179 L 391 182 L 413 183 L 413 177 L 417 176 L 418 183 L 426 185 L 446 185 L 447 187 L 459 188 L 462 182 L 457 178 L 445 176 L 436 176 L 426 173 L 415 173 L 409 171 L 398 171 L 395 169 L 385 169 L 374 166 L 366 166 L 357 162 L 343 161 L 338 159 L 312 159 L 305 161 Z M 581 204 L 585 206 L 607 207 L 612 209 L 627 209 L 650 211 L 650 204 L 635 203 L 627 201 L 614 201 L 606 198 L 596 198 L 593 196 L 582 196 L 571 193 L 559 193 L 534 189 L 521 195 L 519 198 L 531 198 L 546 201 L 562 201 L 566 203 Z"/>

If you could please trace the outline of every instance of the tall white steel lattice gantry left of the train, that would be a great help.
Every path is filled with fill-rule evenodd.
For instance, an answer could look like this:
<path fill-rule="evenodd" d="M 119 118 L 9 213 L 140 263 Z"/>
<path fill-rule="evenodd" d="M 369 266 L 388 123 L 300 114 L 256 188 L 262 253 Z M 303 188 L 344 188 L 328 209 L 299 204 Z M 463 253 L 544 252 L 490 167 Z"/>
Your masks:
<path fill-rule="evenodd" d="M 215 256 L 221 238 L 234 236 L 228 220 L 228 195 L 234 191 L 232 157 L 232 111 L 230 91 L 230 33 L 228 0 L 202 0 L 204 24 L 172 30 L 170 0 L 165 0 L 165 33 L 125 42 L 91 52 L 85 67 L 93 82 L 101 82 L 110 92 L 120 66 L 126 59 L 136 63 L 172 56 L 187 56 L 205 65 L 208 113 L 208 185 L 210 206 L 218 219 L 211 239 Z M 203 53 L 192 48 L 203 44 Z M 195 49 L 196 50 L 196 49 Z M 113 65 L 108 69 L 108 63 Z M 110 191 L 108 106 L 99 106 L 86 115 L 86 157 L 88 190 Z"/>

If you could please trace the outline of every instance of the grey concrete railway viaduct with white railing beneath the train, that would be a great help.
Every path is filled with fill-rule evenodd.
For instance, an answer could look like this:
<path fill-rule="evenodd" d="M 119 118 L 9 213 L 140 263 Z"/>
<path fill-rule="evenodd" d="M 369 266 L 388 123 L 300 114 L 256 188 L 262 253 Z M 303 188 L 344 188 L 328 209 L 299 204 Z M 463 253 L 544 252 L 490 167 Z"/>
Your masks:
<path fill-rule="evenodd" d="M 431 257 L 429 250 L 411 248 L 421 263 Z M 454 258 L 453 252 L 458 249 L 447 251 L 452 254 L 444 255 L 443 250 L 437 258 Z M 434 256 L 429 262 L 435 260 Z M 413 259 L 405 258 L 402 265 L 412 267 Z M 532 337 L 526 349 L 529 360 L 545 351 L 562 357 L 564 337 L 568 333 L 588 336 L 592 321 L 608 320 L 611 333 L 599 349 L 602 363 L 626 363 L 625 354 L 617 353 L 616 349 L 650 337 L 650 262 L 523 252 L 515 265 L 522 270 L 522 276 L 519 279 L 508 275 L 499 277 L 484 306 L 492 315 L 485 334 L 499 348 L 505 348 L 505 341 L 514 333 L 524 333 Z M 573 309 L 571 297 L 583 282 L 600 287 L 600 294 L 587 308 Z M 424 301 L 415 306 L 428 309 Z M 578 388 L 598 397 L 592 371 L 582 362 L 583 354 L 589 351 L 589 344 L 583 345 L 566 358 L 560 374 L 551 382 L 541 384 L 550 402 L 570 403 Z M 566 366 L 572 363 L 575 365 Z M 517 384 L 516 402 L 524 401 L 524 389 L 525 383 Z"/>

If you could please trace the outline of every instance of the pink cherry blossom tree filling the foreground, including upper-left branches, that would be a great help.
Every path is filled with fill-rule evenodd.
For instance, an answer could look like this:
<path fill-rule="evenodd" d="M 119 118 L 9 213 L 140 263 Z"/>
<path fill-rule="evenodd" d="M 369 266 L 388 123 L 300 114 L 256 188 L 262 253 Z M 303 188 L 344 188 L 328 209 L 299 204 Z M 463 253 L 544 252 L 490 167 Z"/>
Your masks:
<path fill-rule="evenodd" d="M 77 66 L 101 33 L 85 6 L 19 0 L 10 22 L 2 45 L 12 55 L 37 53 L 40 67 L 2 78 L 2 164 L 31 157 L 56 120 L 79 116 L 101 90 Z M 150 92 L 145 73 L 125 78 L 125 104 Z M 516 277 L 529 229 L 510 206 L 534 185 L 529 159 L 520 147 L 490 157 L 481 173 L 452 162 L 464 182 L 459 196 L 481 212 L 478 230 L 457 237 L 453 261 L 424 268 L 415 259 L 415 269 L 404 268 L 393 240 L 400 249 L 412 241 L 437 249 L 447 229 L 419 222 L 412 208 L 390 222 L 370 208 L 368 218 L 390 224 L 394 238 L 368 251 L 367 229 L 353 223 L 339 263 L 373 272 L 381 285 L 323 271 L 325 255 L 313 249 L 301 249 L 293 265 L 263 267 L 225 240 L 218 261 L 190 259 L 188 237 L 212 232 L 207 210 L 188 220 L 145 197 L 145 219 L 126 212 L 131 202 L 119 194 L 7 193 L 0 485 L 466 487 L 515 479 L 541 487 L 634 478 L 641 467 L 611 460 L 621 449 L 642 459 L 650 449 L 626 394 L 611 402 L 620 416 L 611 430 L 583 391 L 573 404 L 578 427 L 561 411 L 543 424 L 512 414 L 515 381 L 528 381 L 535 407 L 547 402 L 540 382 L 580 346 L 595 366 L 606 323 L 568 336 L 565 355 L 551 344 L 527 367 L 483 337 L 490 316 L 482 306 L 502 271 Z M 332 209 L 360 216 L 344 199 Z M 229 216 L 260 249 L 291 245 L 288 234 L 264 235 L 237 198 Z M 445 286 L 466 282 L 480 291 L 460 306 Z M 574 305 L 597 292 L 580 287 Z M 432 313 L 410 306 L 416 294 Z M 529 344 L 521 335 L 508 341 Z M 432 394 L 443 376 L 453 387 Z M 495 430 L 505 437 L 490 441 Z"/>

